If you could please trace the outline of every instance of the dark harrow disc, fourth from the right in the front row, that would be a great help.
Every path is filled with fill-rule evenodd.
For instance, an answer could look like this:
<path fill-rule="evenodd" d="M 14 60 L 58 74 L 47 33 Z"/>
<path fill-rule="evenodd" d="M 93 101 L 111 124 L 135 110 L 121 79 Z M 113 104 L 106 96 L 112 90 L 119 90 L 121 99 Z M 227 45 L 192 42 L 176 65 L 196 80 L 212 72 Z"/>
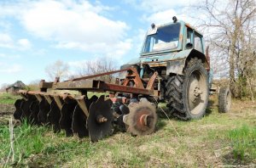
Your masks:
<path fill-rule="evenodd" d="M 54 132 L 61 132 L 60 119 L 61 119 L 61 110 L 55 101 L 52 101 L 50 104 L 50 110 L 47 119 L 49 123 L 53 126 Z"/>

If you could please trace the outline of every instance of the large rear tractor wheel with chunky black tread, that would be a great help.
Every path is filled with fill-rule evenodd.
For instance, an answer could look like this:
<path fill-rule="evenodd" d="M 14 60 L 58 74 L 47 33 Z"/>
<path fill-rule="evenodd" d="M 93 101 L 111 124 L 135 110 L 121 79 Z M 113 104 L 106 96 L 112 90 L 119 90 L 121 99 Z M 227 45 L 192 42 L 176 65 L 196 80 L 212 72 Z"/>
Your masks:
<path fill-rule="evenodd" d="M 166 82 L 167 107 L 180 120 L 201 119 L 209 99 L 207 70 L 201 59 L 190 59 L 183 76 L 169 76 Z"/>

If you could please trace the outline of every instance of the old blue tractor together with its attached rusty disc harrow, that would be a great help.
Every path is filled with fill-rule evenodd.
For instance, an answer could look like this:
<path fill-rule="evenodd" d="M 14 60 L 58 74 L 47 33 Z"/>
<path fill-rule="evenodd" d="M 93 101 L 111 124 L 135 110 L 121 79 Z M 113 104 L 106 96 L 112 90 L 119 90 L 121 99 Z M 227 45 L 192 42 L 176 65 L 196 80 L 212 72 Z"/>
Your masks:
<path fill-rule="evenodd" d="M 90 137 L 97 142 L 113 132 L 135 136 L 155 130 L 156 108 L 165 102 L 168 115 L 180 120 L 201 119 L 206 114 L 212 86 L 212 69 L 203 36 L 189 24 L 172 18 L 172 23 L 151 25 L 140 57 L 120 70 L 67 81 L 40 81 L 40 91 L 20 90 L 15 102 L 15 119 L 38 126 L 65 130 L 67 137 Z M 119 74 L 114 83 L 99 76 Z M 56 91 L 65 90 L 65 93 Z M 79 91 L 79 94 L 68 92 Z M 88 97 L 88 92 L 108 96 Z M 230 109 L 229 87 L 220 89 L 218 109 Z"/>

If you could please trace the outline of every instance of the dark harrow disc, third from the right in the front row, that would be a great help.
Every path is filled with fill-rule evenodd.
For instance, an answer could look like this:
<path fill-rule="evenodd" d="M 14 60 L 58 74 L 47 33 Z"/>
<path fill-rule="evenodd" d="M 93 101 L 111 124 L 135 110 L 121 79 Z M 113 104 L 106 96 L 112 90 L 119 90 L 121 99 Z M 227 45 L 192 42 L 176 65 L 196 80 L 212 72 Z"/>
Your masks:
<path fill-rule="evenodd" d="M 60 126 L 61 129 L 64 129 L 66 132 L 66 136 L 73 136 L 72 131 L 72 120 L 73 120 L 73 111 L 76 107 L 76 101 L 69 101 L 68 103 L 64 103 L 61 108 L 61 120 Z"/>

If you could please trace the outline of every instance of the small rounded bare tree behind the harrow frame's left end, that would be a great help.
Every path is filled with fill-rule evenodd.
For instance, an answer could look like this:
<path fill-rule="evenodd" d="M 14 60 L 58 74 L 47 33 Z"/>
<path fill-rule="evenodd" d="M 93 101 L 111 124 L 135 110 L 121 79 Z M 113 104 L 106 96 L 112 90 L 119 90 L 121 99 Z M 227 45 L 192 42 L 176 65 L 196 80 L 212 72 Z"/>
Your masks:
<path fill-rule="evenodd" d="M 55 61 L 53 64 L 49 64 L 45 68 L 46 74 L 49 76 L 50 80 L 54 81 L 55 77 L 60 79 L 65 79 L 68 76 L 69 65 L 62 62 L 61 60 Z"/>

